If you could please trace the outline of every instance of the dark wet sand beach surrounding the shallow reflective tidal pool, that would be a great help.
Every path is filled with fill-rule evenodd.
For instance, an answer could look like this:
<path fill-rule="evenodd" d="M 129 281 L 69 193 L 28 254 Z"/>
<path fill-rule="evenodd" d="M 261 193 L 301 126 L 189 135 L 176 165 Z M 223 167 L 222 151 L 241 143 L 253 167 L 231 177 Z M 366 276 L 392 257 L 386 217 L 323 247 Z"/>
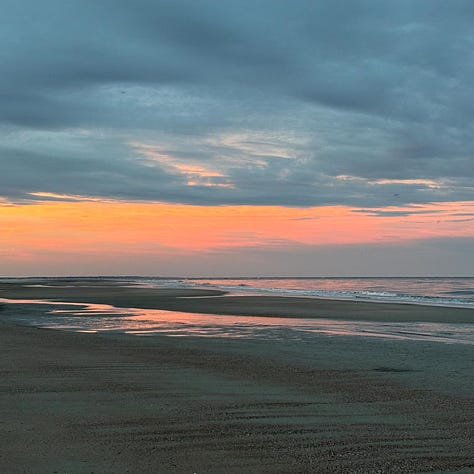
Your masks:
<path fill-rule="evenodd" d="M 42 285 L 44 282 L 36 282 Z M 0 298 L 210 314 L 474 324 L 474 310 L 70 280 Z M 0 471 L 472 472 L 473 348 L 315 335 L 137 337 L 18 325 L 3 304 Z"/>

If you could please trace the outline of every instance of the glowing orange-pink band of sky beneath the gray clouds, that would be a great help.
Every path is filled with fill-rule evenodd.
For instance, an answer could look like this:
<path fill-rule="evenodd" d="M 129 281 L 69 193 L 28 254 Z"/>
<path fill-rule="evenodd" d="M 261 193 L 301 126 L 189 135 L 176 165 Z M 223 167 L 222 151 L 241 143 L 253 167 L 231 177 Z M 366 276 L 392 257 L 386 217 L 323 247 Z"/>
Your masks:
<path fill-rule="evenodd" d="M 403 212 L 408 214 L 400 215 Z M 28 258 L 41 251 L 169 254 L 474 236 L 473 215 L 474 202 L 362 212 L 344 206 L 190 206 L 95 200 L 0 204 L 0 256 Z"/>

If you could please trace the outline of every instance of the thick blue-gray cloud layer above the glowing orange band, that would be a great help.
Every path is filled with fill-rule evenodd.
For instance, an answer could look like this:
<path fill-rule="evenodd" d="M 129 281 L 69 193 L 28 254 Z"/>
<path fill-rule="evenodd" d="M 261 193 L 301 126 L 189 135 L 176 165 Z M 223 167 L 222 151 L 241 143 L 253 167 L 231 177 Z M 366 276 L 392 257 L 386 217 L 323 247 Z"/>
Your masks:
<path fill-rule="evenodd" d="M 0 196 L 474 196 L 471 1 L 2 3 Z"/>

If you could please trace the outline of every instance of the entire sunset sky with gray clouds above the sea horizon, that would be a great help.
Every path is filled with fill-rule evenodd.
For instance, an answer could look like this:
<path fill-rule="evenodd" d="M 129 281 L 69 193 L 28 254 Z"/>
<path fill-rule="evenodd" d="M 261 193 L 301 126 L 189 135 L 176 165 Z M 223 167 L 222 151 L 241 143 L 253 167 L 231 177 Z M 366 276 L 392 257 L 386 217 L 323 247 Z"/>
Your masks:
<path fill-rule="evenodd" d="M 3 0 L 0 275 L 474 275 L 470 0 Z"/>

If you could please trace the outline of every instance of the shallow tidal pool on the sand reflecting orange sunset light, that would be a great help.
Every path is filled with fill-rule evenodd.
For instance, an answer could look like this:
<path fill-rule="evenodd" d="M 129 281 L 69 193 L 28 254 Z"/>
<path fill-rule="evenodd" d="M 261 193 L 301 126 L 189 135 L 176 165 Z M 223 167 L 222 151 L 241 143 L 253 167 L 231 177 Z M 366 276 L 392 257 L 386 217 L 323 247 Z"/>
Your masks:
<path fill-rule="evenodd" d="M 365 336 L 399 340 L 474 345 L 469 324 L 427 322 L 346 321 L 333 319 L 230 316 L 158 309 L 116 308 L 106 304 L 43 300 L 0 300 L 16 304 L 51 305 L 27 322 L 40 327 L 80 332 L 119 332 L 136 336 L 201 336 L 307 340 L 312 334 Z M 59 306 L 60 308 L 55 308 Z"/>

